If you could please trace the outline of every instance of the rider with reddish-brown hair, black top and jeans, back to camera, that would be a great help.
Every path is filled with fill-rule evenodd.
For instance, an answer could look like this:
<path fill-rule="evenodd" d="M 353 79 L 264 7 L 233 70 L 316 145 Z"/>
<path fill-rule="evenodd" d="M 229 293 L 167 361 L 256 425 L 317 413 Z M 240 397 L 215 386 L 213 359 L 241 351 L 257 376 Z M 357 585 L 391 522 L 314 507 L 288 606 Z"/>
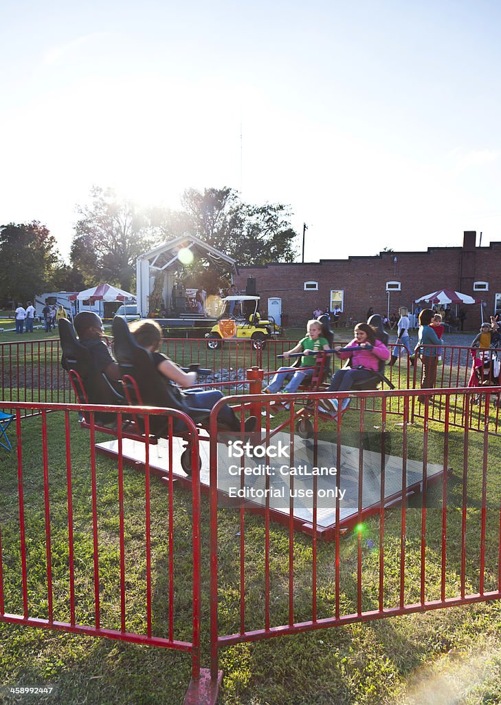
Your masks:
<path fill-rule="evenodd" d="M 151 353 L 158 374 L 179 384 L 181 387 L 189 387 L 195 383 L 196 372 L 184 372 L 180 367 L 177 367 L 177 364 L 169 360 L 166 355 L 158 352 L 162 339 L 162 329 L 156 321 L 151 319 L 133 321 L 129 324 L 129 330 L 136 339 L 137 344 Z M 186 406 L 193 410 L 212 409 L 215 403 L 223 397 L 223 393 L 217 389 L 191 389 L 183 391 L 182 395 L 186 401 Z M 240 431 L 240 420 L 227 404 L 220 408 L 218 419 L 231 431 Z M 257 422 L 258 419 L 255 416 L 248 417 L 244 424 L 244 429 L 246 431 L 254 431 Z"/>

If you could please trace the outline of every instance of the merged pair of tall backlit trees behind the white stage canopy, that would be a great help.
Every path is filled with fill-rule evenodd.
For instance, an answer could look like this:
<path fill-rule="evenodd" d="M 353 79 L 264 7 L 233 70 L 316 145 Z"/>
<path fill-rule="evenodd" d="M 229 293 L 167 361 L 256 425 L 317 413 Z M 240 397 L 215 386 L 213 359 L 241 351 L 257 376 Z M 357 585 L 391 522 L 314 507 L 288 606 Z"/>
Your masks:
<path fill-rule="evenodd" d="M 296 258 L 288 207 L 245 204 L 231 188 L 188 189 L 179 211 L 140 210 L 131 201 L 120 200 L 113 189 L 95 187 L 91 195 L 91 207 L 79 209 L 82 218 L 71 247 L 72 265 L 82 272 L 87 286 L 108 281 L 130 290 L 137 257 L 184 233 L 227 252 L 242 265 Z M 209 277 L 205 264 L 197 262 L 187 269 L 186 274 L 217 289 L 213 279 L 218 277 Z"/>

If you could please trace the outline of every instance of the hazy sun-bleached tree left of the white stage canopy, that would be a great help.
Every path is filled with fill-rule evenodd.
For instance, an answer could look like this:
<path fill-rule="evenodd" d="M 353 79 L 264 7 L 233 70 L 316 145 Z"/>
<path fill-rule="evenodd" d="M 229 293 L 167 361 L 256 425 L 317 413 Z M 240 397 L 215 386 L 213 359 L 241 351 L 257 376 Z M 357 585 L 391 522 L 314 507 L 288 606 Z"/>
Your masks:
<path fill-rule="evenodd" d="M 108 282 L 129 291 L 138 255 L 156 242 L 156 228 L 132 201 L 113 189 L 94 187 L 90 207 L 80 207 L 75 226 L 71 262 L 88 286 Z"/>

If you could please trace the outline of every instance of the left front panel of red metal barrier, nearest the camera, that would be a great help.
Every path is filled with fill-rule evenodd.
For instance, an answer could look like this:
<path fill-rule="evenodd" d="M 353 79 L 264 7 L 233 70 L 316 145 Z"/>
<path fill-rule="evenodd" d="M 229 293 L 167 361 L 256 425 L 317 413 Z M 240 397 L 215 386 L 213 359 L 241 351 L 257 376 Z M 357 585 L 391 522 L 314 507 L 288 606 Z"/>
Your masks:
<path fill-rule="evenodd" d="M 161 519 L 153 521 L 148 443 L 144 491 L 138 494 L 137 486 L 127 489 L 125 483 L 122 415 L 129 415 L 129 407 L 11 403 L 11 409 L 17 459 L 15 451 L 6 455 L 2 468 L 4 482 L 10 482 L 8 473 L 12 481 L 17 476 L 17 498 L 14 503 L 9 493 L 1 510 L 0 622 L 186 651 L 191 654 L 192 678 L 198 679 L 200 484 L 194 422 L 182 412 L 134 407 L 144 418 L 146 436 L 153 415 L 167 420 L 168 496 Z M 89 432 L 77 426 L 77 412 L 82 410 L 90 415 Z M 114 463 L 96 455 L 94 412 L 103 410 L 117 415 L 116 474 Z M 194 468 L 187 534 L 173 504 L 172 436 L 173 423 L 179 420 Z M 166 536 L 160 531 L 165 527 Z M 178 556 L 186 554 L 186 543 L 192 553 L 187 586 L 180 584 L 180 577 L 175 579 L 182 575 L 176 570 L 177 562 L 185 560 Z M 155 603 L 153 589 L 165 591 Z"/>

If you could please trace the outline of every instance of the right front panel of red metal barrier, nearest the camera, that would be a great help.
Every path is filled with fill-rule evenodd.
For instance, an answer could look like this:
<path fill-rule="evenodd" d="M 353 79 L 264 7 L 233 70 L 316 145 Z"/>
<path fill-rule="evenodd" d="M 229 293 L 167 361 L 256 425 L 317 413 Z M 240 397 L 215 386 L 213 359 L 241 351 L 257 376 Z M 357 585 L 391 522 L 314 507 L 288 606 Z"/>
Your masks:
<path fill-rule="evenodd" d="M 250 396 L 232 398 L 264 414 L 261 433 L 241 457 L 227 461 L 221 455 L 215 426 L 220 403 L 211 415 L 213 678 L 218 651 L 229 644 L 501 597 L 501 440 L 490 433 L 488 389 L 262 395 L 252 393 L 259 389 L 259 376 L 262 372 L 255 374 Z M 478 393 L 486 395 L 486 405 L 472 410 L 470 400 Z M 418 395 L 426 398 L 423 418 L 414 414 L 412 423 Z M 431 417 L 436 395 L 443 402 L 442 423 Z M 452 429 L 449 419 L 459 397 L 464 427 Z M 329 419 L 322 410 L 326 398 L 339 404 L 352 398 L 352 405 Z M 290 407 L 274 410 L 279 400 Z M 400 419 L 394 417 L 396 409 Z M 284 470 L 280 461 L 270 460 L 279 447 L 286 450 Z M 334 472 L 326 481 L 314 474 L 305 484 L 296 472 L 300 464 L 319 468 L 324 460 Z M 285 486 L 281 496 L 274 494 L 280 486 Z M 311 491 L 309 503 L 298 494 L 305 487 Z M 223 494 L 235 497 L 239 515 L 239 551 L 231 562 L 224 553 L 224 574 L 218 571 L 217 534 Z M 397 503 L 400 509 L 388 513 Z M 223 505 L 227 510 L 227 497 Z M 264 517 L 260 547 L 255 522 L 247 531 L 248 510 Z M 283 542 L 272 540 L 272 521 L 287 528 L 285 553 Z M 307 560 L 299 527 L 311 535 Z M 350 529 L 353 534 L 346 534 Z M 342 534 L 348 546 L 341 544 Z M 334 539 L 330 550 L 321 550 L 322 536 Z M 220 613 L 222 594 L 236 594 L 237 600 L 232 610 L 225 603 Z M 263 596 L 261 608 L 254 602 L 249 610 L 255 594 Z"/>

